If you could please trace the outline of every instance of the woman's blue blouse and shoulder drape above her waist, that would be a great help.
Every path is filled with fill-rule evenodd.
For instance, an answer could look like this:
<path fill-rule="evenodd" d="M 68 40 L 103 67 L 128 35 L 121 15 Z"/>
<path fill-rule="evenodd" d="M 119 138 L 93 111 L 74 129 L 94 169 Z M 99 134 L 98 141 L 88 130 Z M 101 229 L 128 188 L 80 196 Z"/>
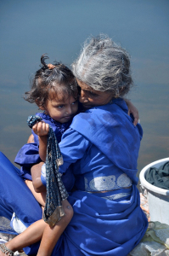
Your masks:
<path fill-rule="evenodd" d="M 141 125 L 132 124 L 126 102 L 121 99 L 79 113 L 59 143 L 64 158 L 59 172 L 64 173 L 70 163 L 76 162 L 74 174 L 78 179 L 77 189 L 87 191 L 91 191 L 85 186 L 89 185 L 92 177 L 99 176 L 113 176 L 115 184 L 111 184 L 111 189 L 121 188 L 124 176 L 127 177 L 124 187 L 137 184 L 138 150 L 142 137 Z"/>

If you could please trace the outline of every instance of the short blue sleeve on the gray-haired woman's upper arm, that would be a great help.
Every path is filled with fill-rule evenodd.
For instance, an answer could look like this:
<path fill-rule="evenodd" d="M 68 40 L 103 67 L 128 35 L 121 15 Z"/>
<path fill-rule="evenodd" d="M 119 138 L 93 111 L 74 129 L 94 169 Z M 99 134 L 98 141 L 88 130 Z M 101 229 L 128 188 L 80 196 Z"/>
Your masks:
<path fill-rule="evenodd" d="M 62 136 L 59 148 L 64 159 L 63 166 L 59 166 L 59 172 L 64 173 L 70 164 L 82 159 L 90 142 L 80 133 L 73 129 L 68 129 Z"/>

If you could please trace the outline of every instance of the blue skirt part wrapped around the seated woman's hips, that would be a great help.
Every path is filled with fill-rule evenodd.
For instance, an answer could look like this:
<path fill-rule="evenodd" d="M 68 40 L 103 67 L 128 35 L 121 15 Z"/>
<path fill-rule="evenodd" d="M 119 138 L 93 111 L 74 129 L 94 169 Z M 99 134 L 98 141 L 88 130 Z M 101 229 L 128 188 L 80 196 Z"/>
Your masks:
<path fill-rule="evenodd" d="M 87 194 L 75 191 L 70 196 L 74 217 L 62 236 L 55 256 L 126 256 L 144 236 L 147 219 L 139 206 L 139 192 L 121 201 L 104 199 L 108 193 Z"/>

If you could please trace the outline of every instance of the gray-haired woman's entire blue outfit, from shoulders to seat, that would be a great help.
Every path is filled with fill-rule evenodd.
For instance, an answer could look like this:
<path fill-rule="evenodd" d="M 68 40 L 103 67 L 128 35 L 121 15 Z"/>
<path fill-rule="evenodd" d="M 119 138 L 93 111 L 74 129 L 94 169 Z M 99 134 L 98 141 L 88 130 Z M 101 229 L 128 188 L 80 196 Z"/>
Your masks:
<path fill-rule="evenodd" d="M 125 256 L 142 239 L 148 226 L 136 186 L 142 135 L 121 99 L 76 115 L 59 143 L 59 172 L 71 166 L 75 175 L 68 198 L 74 217 L 52 255 Z M 36 253 L 36 246 L 25 253 Z"/>

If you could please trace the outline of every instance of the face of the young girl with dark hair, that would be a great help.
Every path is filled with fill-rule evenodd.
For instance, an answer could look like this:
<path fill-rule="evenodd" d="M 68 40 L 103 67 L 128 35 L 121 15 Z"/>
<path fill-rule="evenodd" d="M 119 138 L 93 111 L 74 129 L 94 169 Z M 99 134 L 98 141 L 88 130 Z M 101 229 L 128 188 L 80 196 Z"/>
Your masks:
<path fill-rule="evenodd" d="M 44 108 L 41 109 L 45 110 L 45 113 L 55 121 L 61 124 L 67 123 L 78 110 L 77 98 L 69 95 L 63 96 L 62 94 L 56 96 L 54 92 L 50 92 L 50 94 L 51 97 L 46 102 Z"/>

